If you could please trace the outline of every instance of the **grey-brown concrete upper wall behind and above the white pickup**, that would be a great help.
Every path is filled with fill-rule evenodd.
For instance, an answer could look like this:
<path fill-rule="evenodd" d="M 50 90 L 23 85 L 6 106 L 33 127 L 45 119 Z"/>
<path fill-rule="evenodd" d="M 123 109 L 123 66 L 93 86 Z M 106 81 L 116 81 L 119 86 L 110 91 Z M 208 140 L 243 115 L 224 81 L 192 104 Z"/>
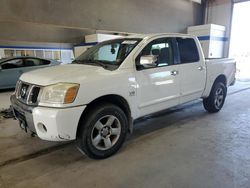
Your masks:
<path fill-rule="evenodd" d="M 78 43 L 96 30 L 186 32 L 202 24 L 189 0 L 1 0 L 0 40 Z"/>

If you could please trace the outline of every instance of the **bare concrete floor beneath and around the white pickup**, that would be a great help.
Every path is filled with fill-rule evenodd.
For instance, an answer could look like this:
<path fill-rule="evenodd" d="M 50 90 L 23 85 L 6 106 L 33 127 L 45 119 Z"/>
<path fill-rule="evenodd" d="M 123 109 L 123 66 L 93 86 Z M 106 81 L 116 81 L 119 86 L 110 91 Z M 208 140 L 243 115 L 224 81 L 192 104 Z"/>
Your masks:
<path fill-rule="evenodd" d="M 196 101 L 145 117 L 105 160 L 2 119 L 0 187 L 249 187 L 249 96 L 249 87 L 234 86 L 219 113 Z"/>

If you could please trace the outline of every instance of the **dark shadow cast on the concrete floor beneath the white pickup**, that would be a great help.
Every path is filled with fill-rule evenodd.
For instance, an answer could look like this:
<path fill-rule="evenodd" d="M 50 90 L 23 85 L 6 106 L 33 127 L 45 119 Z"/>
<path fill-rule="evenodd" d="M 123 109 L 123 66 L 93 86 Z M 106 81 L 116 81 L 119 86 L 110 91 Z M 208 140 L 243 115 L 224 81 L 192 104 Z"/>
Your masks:
<path fill-rule="evenodd" d="M 135 121 L 133 133 L 128 135 L 124 147 L 121 148 L 119 153 L 126 152 L 126 148 L 129 147 L 131 143 L 136 142 L 136 140 L 141 139 L 144 136 L 147 137 L 148 134 L 153 134 L 154 132 L 167 128 L 181 128 L 187 123 L 208 115 L 209 114 L 203 109 L 201 101 L 195 101 L 140 118 Z M 85 154 L 82 155 L 82 153 L 78 152 L 75 147 L 75 142 L 67 142 L 50 148 L 39 150 L 32 154 L 19 156 L 11 160 L 1 162 L 0 169 L 8 165 L 25 162 L 31 159 L 40 161 L 42 157 L 49 154 L 53 155 L 53 153 L 55 152 L 59 152 L 60 155 L 54 156 L 54 160 L 50 160 L 50 157 L 45 157 L 41 162 L 53 163 L 53 165 L 58 166 L 65 165 L 64 157 L 67 158 L 68 163 L 74 163 L 81 160 L 87 160 L 88 162 L 95 161 L 89 159 Z M 62 155 L 64 157 L 62 157 Z"/>

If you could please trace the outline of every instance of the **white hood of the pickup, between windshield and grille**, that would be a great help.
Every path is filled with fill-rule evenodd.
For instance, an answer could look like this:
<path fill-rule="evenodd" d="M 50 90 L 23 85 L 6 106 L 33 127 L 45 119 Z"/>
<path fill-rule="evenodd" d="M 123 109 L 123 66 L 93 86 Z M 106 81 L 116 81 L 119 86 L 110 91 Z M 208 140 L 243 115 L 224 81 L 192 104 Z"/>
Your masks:
<path fill-rule="evenodd" d="M 109 70 L 105 70 L 98 66 L 68 64 L 27 72 L 20 77 L 20 80 L 27 83 L 46 86 L 59 82 L 82 83 L 87 79 L 89 80 L 91 77 L 99 79 L 108 73 L 110 74 Z"/>

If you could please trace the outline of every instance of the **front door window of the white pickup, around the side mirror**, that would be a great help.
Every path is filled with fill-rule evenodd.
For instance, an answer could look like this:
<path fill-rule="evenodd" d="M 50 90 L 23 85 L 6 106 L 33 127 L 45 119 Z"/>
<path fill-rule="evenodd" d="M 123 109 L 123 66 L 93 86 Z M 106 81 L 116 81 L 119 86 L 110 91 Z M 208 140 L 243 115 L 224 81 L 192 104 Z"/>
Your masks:
<path fill-rule="evenodd" d="M 140 65 L 140 59 L 142 56 L 154 55 L 157 61 L 150 65 Z M 173 57 L 173 45 L 171 38 L 161 38 L 150 42 L 136 57 L 137 69 L 147 69 L 162 67 L 174 64 Z"/>

